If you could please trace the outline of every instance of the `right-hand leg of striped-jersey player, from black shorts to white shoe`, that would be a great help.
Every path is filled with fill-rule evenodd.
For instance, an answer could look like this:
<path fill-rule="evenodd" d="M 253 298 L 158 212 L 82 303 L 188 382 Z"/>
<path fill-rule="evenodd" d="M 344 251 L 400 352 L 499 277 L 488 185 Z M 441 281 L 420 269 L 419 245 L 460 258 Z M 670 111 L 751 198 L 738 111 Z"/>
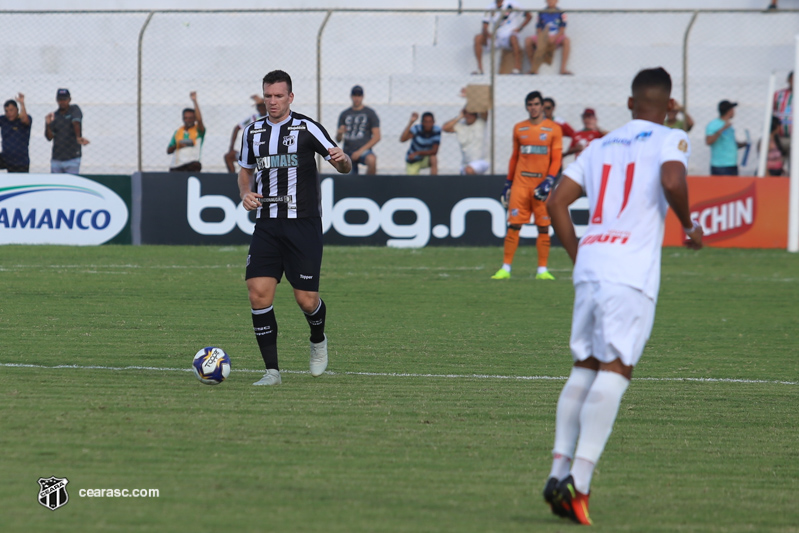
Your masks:
<path fill-rule="evenodd" d="M 290 224 L 290 226 L 289 226 Z M 319 297 L 322 271 L 322 221 L 300 218 L 287 221 L 286 279 L 294 288 L 294 299 L 305 314 L 310 337 L 311 375 L 320 376 L 327 368 L 327 307 Z"/>

